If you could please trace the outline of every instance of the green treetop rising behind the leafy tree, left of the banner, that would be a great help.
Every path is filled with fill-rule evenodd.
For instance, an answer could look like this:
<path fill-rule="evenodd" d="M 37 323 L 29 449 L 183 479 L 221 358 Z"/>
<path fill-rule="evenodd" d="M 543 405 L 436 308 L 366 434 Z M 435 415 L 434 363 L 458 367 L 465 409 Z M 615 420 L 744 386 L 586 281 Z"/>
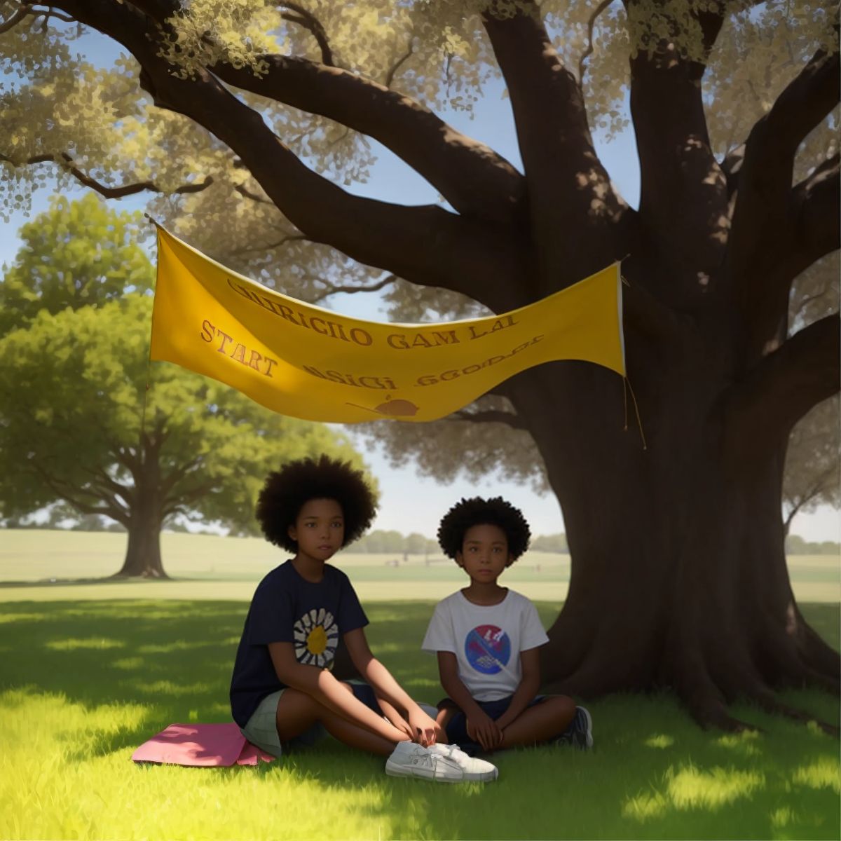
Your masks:
<path fill-rule="evenodd" d="M 0 284 L 0 336 L 31 323 L 41 309 L 98 306 L 151 289 L 140 214 L 119 213 L 96 193 L 57 196 L 20 230 L 23 245 Z"/>

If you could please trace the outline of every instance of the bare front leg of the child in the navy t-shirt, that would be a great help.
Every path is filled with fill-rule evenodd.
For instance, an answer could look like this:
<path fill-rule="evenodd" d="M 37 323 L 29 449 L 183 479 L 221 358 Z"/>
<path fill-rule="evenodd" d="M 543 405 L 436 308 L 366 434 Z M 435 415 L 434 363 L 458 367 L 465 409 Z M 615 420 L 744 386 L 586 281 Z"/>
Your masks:
<path fill-rule="evenodd" d="M 336 712 L 328 710 L 306 692 L 296 689 L 288 689 L 280 696 L 275 721 L 281 742 L 288 742 L 300 736 L 315 722 L 321 722 L 327 732 L 341 743 L 383 756 L 391 754 L 396 743 L 408 740 L 405 733 L 400 733 L 385 719 L 381 727 L 378 727 L 378 732 L 372 733 L 367 728 L 347 721 Z"/>

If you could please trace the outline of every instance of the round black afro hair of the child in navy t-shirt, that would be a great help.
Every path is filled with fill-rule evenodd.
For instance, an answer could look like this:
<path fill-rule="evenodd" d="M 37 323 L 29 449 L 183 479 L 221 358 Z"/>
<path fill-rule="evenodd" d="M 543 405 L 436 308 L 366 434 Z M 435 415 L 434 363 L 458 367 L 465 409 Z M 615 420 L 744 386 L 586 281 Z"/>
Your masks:
<path fill-rule="evenodd" d="M 345 518 L 342 546 L 362 537 L 377 513 L 377 497 L 362 471 L 350 462 L 329 456 L 301 458 L 269 473 L 257 498 L 257 521 L 267 541 L 297 552 L 298 542 L 289 537 L 289 526 L 294 526 L 309 500 L 336 500 L 341 505 Z"/>

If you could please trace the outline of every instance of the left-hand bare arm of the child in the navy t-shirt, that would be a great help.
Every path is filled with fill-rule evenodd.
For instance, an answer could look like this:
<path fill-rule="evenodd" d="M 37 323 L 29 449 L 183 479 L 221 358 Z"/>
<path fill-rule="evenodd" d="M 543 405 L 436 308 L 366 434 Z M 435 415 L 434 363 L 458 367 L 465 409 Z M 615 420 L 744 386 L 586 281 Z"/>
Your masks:
<path fill-rule="evenodd" d="M 382 717 L 379 717 L 376 712 L 346 691 L 330 671 L 321 669 L 320 666 L 299 663 L 295 658 L 293 643 L 268 643 L 268 651 L 281 683 L 306 692 L 322 706 L 326 706 L 327 709 L 350 722 L 365 727 L 372 733 L 386 735 L 383 733 L 383 727 L 389 727 L 389 725 L 383 722 Z M 386 738 L 394 738 L 395 742 L 405 739 L 405 735 L 395 727 L 390 729 L 393 729 L 394 733 L 389 733 Z"/>

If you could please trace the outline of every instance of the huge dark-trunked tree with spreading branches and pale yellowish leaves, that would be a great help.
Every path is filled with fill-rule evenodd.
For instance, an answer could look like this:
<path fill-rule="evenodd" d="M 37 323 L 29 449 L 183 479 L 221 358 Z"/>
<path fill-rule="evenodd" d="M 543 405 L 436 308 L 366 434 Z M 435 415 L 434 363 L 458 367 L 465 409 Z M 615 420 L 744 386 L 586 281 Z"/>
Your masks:
<path fill-rule="evenodd" d="M 780 505 L 792 429 L 838 391 L 838 315 L 822 294 L 831 285 L 822 258 L 838 249 L 839 228 L 833 8 L 57 0 L 3 9 L 4 56 L 22 77 L 3 100 L 13 205 L 25 203 L 23 182 L 49 174 L 24 165 L 52 161 L 60 181 L 105 195 L 167 194 L 156 212 L 178 233 L 267 283 L 283 265 L 284 288 L 309 299 L 389 286 L 395 314 L 427 317 L 514 309 L 627 257 L 627 362 L 648 449 L 616 424 L 621 383 L 565 362 L 522 373 L 432 427 L 436 458 L 422 467 L 488 469 L 510 453 L 516 475 L 539 481 L 540 461 L 527 458 L 540 453 L 572 554 L 569 597 L 542 649 L 547 689 L 666 685 L 699 722 L 727 728 L 742 726 L 727 711 L 738 696 L 802 717 L 776 687 L 838 690 L 838 655 L 791 592 Z M 108 73 L 74 61 L 61 16 L 131 59 Z M 469 108 L 496 73 L 521 170 L 436 115 L 444 101 Z M 594 127 L 627 121 L 626 90 L 638 209 L 593 140 Z M 343 189 L 365 176 L 365 136 L 443 203 L 405 207 Z M 800 320 L 790 311 L 798 288 L 813 299 Z M 496 425 L 486 427 L 493 447 L 469 426 L 479 423 Z M 517 434 L 506 438 L 501 424 Z M 438 434 L 447 429 L 449 439 Z M 411 425 L 376 430 L 404 446 L 398 458 L 430 446 Z M 464 456 L 444 463 L 453 437 Z"/>

